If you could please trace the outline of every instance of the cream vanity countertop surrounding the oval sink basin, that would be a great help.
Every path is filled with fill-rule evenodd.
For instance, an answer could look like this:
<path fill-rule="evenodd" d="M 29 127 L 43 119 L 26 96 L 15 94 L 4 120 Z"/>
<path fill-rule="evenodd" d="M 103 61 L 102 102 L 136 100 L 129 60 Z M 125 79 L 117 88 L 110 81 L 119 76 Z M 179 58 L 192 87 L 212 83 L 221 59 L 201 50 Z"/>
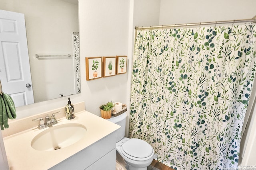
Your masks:
<path fill-rule="evenodd" d="M 4 138 L 4 146 L 10 170 L 46 170 L 76 154 L 80 150 L 92 145 L 96 141 L 116 131 L 120 126 L 106 119 L 98 117 L 88 111 L 76 113 L 76 117 L 67 120 L 65 117 L 58 119 L 56 125 L 66 123 L 80 123 L 87 129 L 86 137 L 77 143 L 59 150 L 40 151 L 31 147 L 32 139 L 38 133 L 50 128 L 38 129 L 34 127 L 20 133 Z"/>

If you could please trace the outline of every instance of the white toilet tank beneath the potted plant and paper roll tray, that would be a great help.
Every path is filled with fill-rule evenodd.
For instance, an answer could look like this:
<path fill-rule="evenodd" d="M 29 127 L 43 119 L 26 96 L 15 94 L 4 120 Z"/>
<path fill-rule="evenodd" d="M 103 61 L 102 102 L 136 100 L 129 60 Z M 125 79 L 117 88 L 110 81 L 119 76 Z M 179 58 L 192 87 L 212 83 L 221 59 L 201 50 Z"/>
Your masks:
<path fill-rule="evenodd" d="M 117 129 L 117 135 L 116 135 L 116 142 L 120 141 L 124 138 L 125 135 L 125 127 L 126 127 L 126 112 L 122 113 L 121 115 L 118 115 L 116 117 L 111 117 L 110 119 L 107 119 L 108 121 L 111 121 L 112 123 L 116 123 L 117 125 L 121 126 L 119 129 Z"/>

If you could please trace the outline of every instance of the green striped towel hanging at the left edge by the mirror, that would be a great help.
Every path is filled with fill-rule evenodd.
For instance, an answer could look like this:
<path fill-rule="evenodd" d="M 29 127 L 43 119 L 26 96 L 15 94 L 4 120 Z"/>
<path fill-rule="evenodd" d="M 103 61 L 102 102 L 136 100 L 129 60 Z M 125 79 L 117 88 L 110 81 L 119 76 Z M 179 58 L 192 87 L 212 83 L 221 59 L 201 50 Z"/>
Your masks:
<path fill-rule="evenodd" d="M 8 118 L 16 118 L 16 109 L 14 102 L 9 94 L 3 93 L 0 95 L 0 127 L 1 130 L 8 128 Z M 4 125 L 4 126 L 3 126 Z"/>

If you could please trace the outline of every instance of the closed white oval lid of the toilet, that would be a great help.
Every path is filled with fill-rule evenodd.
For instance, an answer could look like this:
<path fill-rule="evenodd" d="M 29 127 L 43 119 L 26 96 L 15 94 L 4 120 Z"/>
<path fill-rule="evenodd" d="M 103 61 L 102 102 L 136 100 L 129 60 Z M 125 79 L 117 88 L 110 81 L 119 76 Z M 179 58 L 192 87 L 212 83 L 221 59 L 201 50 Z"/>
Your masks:
<path fill-rule="evenodd" d="M 132 138 L 122 145 L 123 154 L 129 157 L 147 158 L 154 152 L 153 148 L 141 139 Z M 126 155 L 127 156 L 127 155 Z"/>

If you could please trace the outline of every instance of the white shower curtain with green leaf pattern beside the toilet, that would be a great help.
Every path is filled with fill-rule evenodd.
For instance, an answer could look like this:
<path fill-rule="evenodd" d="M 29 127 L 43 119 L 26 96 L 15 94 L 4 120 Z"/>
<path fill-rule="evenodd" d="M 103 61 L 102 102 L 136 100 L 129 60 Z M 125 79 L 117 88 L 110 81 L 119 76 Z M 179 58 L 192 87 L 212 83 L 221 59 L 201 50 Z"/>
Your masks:
<path fill-rule="evenodd" d="M 236 169 L 255 40 L 254 25 L 138 30 L 130 137 L 178 170 Z"/>

